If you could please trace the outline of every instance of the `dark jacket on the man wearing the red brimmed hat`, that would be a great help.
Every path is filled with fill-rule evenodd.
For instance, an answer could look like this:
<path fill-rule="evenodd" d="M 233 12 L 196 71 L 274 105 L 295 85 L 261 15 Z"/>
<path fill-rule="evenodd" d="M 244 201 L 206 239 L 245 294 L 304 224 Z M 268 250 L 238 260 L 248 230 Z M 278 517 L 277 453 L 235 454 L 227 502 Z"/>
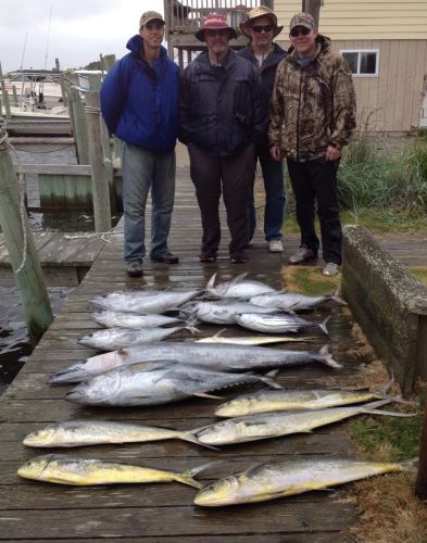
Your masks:
<path fill-rule="evenodd" d="M 201 53 L 184 71 L 179 140 L 214 157 L 239 153 L 263 139 L 265 109 L 255 67 L 229 50 L 222 65 Z"/>

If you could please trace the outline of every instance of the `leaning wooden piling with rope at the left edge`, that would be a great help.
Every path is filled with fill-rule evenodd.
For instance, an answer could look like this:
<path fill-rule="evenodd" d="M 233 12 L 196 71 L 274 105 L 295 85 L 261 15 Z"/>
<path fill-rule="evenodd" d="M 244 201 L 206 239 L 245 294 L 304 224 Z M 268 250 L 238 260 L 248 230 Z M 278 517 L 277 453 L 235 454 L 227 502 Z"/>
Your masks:
<path fill-rule="evenodd" d="M 1 118 L 0 225 L 24 307 L 29 338 L 36 343 L 52 321 L 52 310 L 28 227 L 28 217 L 25 207 L 21 205 L 21 194 Z"/>

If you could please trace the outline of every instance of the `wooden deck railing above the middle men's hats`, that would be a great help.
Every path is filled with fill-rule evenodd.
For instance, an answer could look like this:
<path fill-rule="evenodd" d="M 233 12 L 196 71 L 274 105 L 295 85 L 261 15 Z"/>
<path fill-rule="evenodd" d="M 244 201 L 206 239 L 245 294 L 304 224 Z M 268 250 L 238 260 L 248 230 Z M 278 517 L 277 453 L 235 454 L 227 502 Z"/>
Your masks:
<path fill-rule="evenodd" d="M 228 24 L 240 31 L 239 25 L 247 20 L 248 11 L 260 4 L 272 4 L 262 0 L 164 0 L 167 34 L 193 34 L 209 13 L 224 13 Z"/>

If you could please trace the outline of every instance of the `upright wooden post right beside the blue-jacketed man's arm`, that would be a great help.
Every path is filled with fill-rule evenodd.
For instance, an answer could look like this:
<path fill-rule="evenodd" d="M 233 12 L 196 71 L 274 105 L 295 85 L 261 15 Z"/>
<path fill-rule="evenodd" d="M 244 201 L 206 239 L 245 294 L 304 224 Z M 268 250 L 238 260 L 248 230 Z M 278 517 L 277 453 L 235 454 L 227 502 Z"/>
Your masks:
<path fill-rule="evenodd" d="M 104 232 L 111 229 L 111 212 L 109 177 L 101 139 L 99 92 L 90 90 L 86 93 L 86 114 L 92 176 L 95 229 L 97 232 Z"/>

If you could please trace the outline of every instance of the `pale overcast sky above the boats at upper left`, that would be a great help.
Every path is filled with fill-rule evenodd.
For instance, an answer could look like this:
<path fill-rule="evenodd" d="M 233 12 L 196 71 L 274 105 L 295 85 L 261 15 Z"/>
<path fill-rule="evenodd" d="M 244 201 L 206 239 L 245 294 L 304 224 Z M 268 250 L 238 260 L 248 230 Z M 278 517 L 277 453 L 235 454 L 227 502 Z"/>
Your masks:
<path fill-rule="evenodd" d="M 118 59 L 148 10 L 163 13 L 163 0 L 0 0 L 3 73 L 20 70 L 21 64 L 34 70 L 46 64 L 50 70 L 55 59 L 62 70 L 98 61 L 100 53 L 115 53 Z"/>

